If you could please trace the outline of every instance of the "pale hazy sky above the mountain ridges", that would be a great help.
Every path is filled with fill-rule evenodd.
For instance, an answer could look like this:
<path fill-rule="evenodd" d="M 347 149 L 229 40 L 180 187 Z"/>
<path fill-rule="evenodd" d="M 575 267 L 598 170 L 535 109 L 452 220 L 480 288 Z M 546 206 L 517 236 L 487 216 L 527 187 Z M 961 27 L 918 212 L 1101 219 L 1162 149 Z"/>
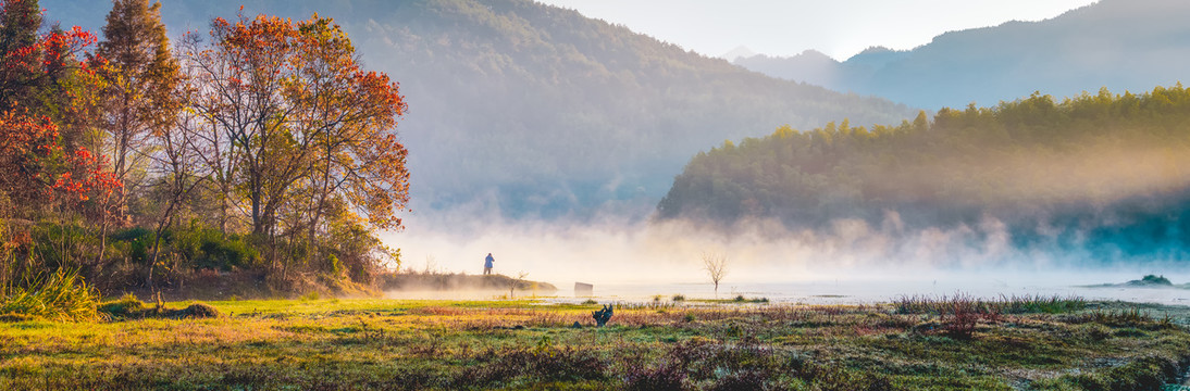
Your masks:
<path fill-rule="evenodd" d="M 708 56 L 744 45 L 846 59 L 869 46 L 913 49 L 947 31 L 1042 20 L 1092 0 L 538 0 Z"/>

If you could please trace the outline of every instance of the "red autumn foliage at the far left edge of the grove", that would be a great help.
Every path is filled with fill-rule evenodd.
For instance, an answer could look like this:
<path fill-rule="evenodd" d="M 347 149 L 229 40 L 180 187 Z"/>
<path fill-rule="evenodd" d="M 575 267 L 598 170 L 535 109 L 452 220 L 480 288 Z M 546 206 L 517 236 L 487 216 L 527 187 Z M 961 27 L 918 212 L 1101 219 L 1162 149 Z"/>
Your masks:
<path fill-rule="evenodd" d="M 6 20 L 20 19 L 10 14 L 20 2 L 4 4 Z M 86 111 L 83 94 L 69 88 L 82 86 L 61 80 L 68 77 L 65 74 L 76 81 L 92 80 L 94 70 L 79 56 L 95 43 L 95 36 L 75 26 L 14 45 L 21 40 L 21 31 L 13 31 L 17 27 L 5 26 L 8 42 L 4 46 L 8 50 L 0 61 L 0 101 L 5 106 L 0 113 L 0 191 L 26 207 L 54 202 L 80 207 L 93 197 L 111 195 L 119 182 L 111 177 L 106 158 L 84 146 L 64 146 L 69 134 L 60 127 L 74 120 L 71 114 Z M 18 215 L 11 209 L 14 204 L 2 215 Z"/>

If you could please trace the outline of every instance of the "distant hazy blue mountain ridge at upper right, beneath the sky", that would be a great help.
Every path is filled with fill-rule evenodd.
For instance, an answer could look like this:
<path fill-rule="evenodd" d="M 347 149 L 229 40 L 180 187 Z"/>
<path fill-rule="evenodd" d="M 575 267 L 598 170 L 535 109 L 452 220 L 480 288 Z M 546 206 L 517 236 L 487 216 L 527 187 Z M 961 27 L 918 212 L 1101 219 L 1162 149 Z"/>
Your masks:
<path fill-rule="evenodd" d="M 1072 96 L 1190 80 L 1186 20 L 1186 1 L 1103 0 L 1048 20 L 947 32 L 908 51 L 872 48 L 844 62 L 808 51 L 735 63 L 928 109 L 990 106 L 1033 92 Z"/>

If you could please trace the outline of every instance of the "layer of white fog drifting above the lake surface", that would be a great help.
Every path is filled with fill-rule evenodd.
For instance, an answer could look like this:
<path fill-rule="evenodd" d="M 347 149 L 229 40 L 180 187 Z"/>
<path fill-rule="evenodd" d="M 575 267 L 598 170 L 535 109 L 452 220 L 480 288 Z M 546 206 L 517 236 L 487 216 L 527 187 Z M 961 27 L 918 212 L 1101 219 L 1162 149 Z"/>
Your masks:
<path fill-rule="evenodd" d="M 409 223 L 415 227 L 416 219 Z M 1009 241 L 1006 226 L 996 221 L 913 232 L 897 228 L 895 222 L 875 227 L 862 220 L 839 220 L 825 231 L 789 231 L 776 220 L 740 221 L 729 229 L 678 221 L 505 221 L 474 228 L 465 233 L 411 228 L 387 240 L 401 247 L 405 269 L 478 275 L 490 252 L 496 273 L 527 272 L 528 279 L 553 283 L 563 292 L 574 282 L 597 286 L 709 283 L 702 269 L 706 253 L 728 258 L 728 284 L 1052 278 L 1054 285 L 1061 285 L 1185 271 L 1176 259 L 1103 263 L 1095 260 L 1090 248 L 1019 248 Z"/>

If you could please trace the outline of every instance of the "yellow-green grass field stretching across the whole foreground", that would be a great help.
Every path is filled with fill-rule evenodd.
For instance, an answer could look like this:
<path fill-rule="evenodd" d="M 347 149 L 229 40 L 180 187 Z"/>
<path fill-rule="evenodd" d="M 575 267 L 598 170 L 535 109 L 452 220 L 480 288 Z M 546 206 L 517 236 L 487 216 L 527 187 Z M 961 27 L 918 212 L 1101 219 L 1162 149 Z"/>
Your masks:
<path fill-rule="evenodd" d="M 0 322 L 0 390 L 1160 390 L 1190 362 L 1185 308 L 1077 299 L 666 299 L 603 328 L 597 304 L 533 299 L 209 304 Z"/>

